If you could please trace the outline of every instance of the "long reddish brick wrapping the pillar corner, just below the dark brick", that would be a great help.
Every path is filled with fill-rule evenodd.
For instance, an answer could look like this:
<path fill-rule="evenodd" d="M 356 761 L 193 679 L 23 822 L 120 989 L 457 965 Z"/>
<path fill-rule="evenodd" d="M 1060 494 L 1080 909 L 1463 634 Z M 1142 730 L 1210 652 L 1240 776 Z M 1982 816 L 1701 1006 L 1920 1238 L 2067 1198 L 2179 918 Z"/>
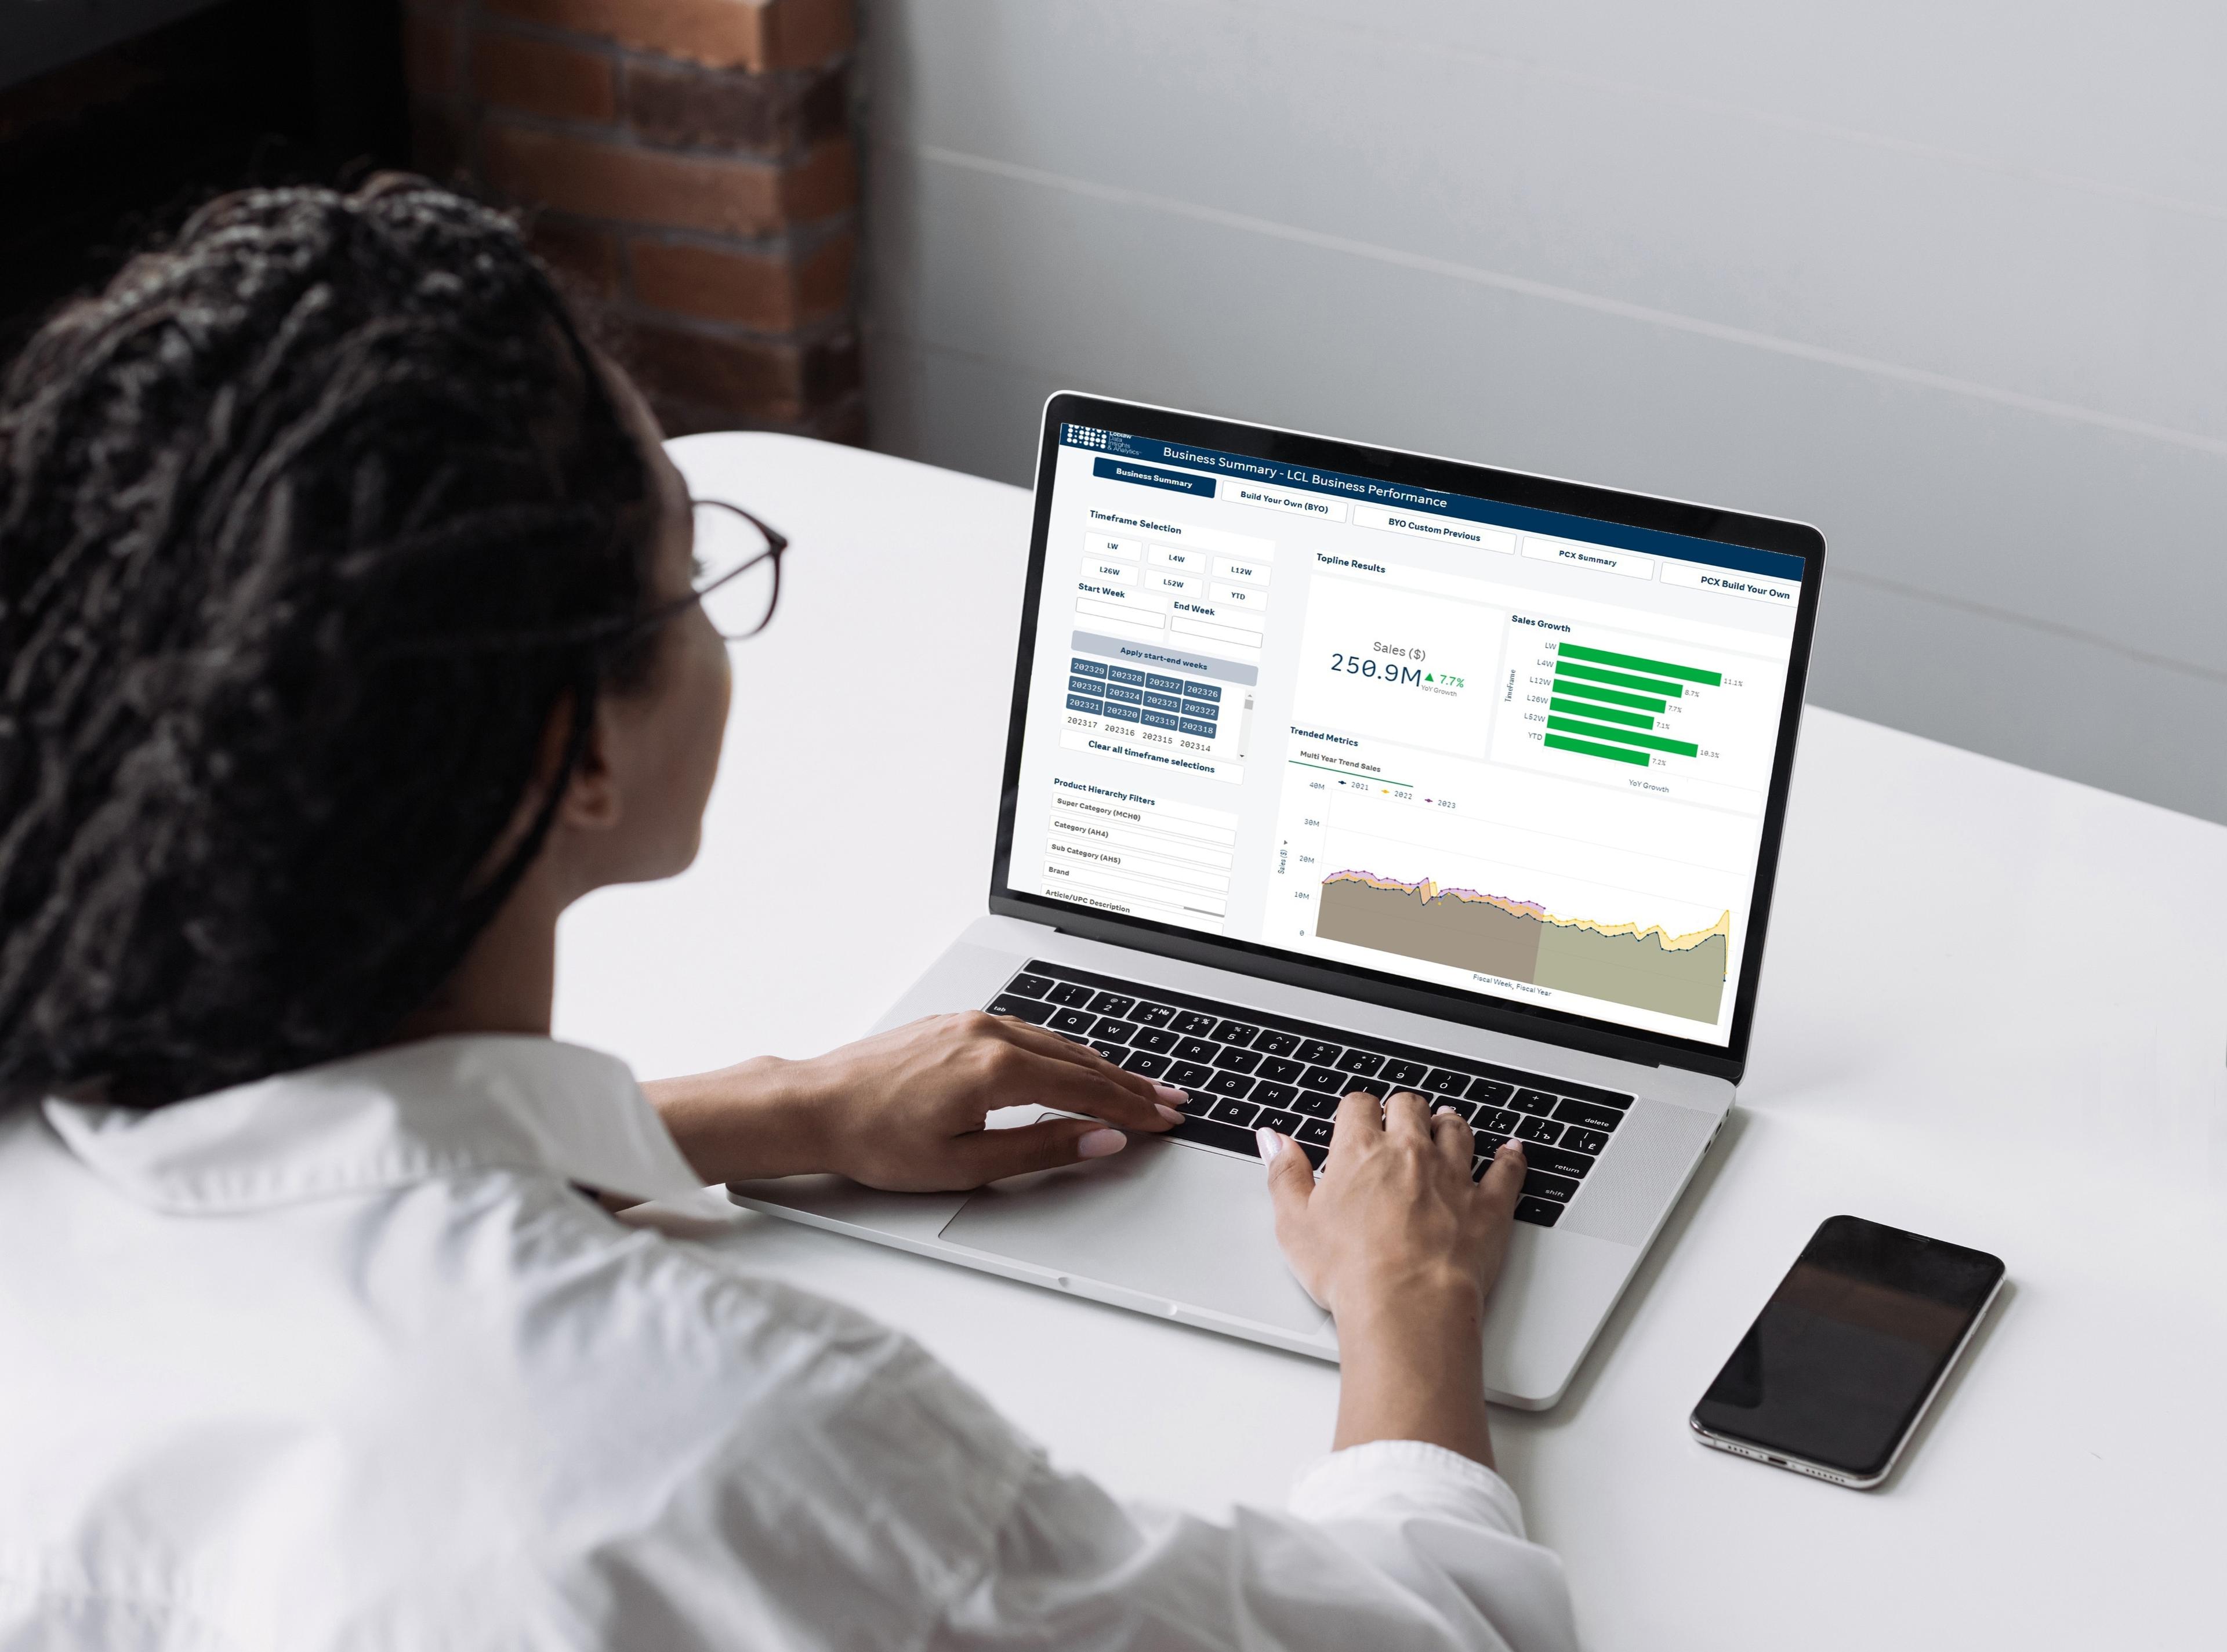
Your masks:
<path fill-rule="evenodd" d="M 706 160 L 488 122 L 488 183 L 512 200 L 583 218 L 762 236 L 828 218 L 857 200 L 851 145 L 824 142 L 793 165 Z"/>

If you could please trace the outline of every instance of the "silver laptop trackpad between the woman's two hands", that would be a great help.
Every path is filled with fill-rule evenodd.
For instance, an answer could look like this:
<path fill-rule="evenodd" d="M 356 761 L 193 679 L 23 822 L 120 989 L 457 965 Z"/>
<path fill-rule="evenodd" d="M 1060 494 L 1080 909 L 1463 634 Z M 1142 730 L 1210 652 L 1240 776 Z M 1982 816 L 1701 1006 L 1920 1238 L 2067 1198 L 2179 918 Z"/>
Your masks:
<path fill-rule="evenodd" d="M 1303 1336 L 1330 1322 L 1276 1249 L 1260 1164 L 1183 1142 L 1131 1135 L 1114 1158 L 984 1187 L 940 1238 Z"/>

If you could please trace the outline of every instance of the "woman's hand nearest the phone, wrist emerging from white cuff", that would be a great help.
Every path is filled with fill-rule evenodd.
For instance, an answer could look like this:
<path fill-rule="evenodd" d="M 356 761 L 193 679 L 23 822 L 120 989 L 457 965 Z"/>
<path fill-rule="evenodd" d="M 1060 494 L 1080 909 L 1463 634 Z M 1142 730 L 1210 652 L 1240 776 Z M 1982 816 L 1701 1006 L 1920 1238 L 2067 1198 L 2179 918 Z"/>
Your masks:
<path fill-rule="evenodd" d="M 1341 1449 L 1430 1440 L 1492 1463 L 1483 1311 L 1508 1256 L 1523 1149 L 1503 1144 L 1470 1182 L 1474 1151 L 1461 1113 L 1432 1115 L 1414 1093 L 1381 1107 L 1347 1095 L 1321 1182 L 1296 1142 L 1260 1133 L 1276 1242 L 1338 1322 Z"/>

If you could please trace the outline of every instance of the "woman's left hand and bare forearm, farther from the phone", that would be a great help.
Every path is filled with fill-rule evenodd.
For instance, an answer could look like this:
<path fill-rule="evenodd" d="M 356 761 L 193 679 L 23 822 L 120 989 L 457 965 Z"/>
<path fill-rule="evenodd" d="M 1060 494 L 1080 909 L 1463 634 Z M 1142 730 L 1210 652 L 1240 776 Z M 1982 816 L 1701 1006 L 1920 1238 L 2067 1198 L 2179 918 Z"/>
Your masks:
<path fill-rule="evenodd" d="M 866 1187 L 955 1191 L 1105 1158 L 1127 1144 L 1125 1129 L 1183 1120 L 1183 1091 L 980 1011 L 929 1015 L 804 1062 L 762 1058 L 644 1091 L 706 1182 L 837 1171 Z M 1087 1118 L 984 1129 L 991 1109 L 1022 1104 Z"/>

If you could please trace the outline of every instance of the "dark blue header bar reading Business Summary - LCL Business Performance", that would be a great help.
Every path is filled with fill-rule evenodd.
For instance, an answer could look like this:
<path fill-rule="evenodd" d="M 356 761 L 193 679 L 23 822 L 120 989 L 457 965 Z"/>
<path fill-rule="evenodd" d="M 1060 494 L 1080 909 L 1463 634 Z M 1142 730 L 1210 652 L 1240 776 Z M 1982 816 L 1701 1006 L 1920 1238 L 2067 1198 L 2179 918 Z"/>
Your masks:
<path fill-rule="evenodd" d="M 1595 545 L 1615 545 L 1619 550 L 1637 550 L 1650 557 L 1670 557 L 1675 561 L 1704 563 L 1710 568 L 1737 568 L 1744 574 L 1764 574 L 1766 579 L 1802 581 L 1799 557 L 1788 557 L 1779 550 L 1724 545 L 1715 539 L 1693 539 L 1690 534 L 1666 534 L 1659 528 L 1626 528 L 1623 523 L 1601 521 L 1597 517 L 1570 517 L 1559 510 L 1503 505 L 1497 499 L 1474 499 L 1470 494 L 1439 494 L 1407 483 L 1352 476 L 1343 470 L 1287 465 L 1278 459 L 1227 454 L 1218 448 L 1187 448 L 1176 441 L 1129 436 L 1120 430 L 1096 430 L 1091 425 L 1060 425 L 1060 445 L 1105 454 L 1091 465 L 1098 476 L 1138 481 L 1149 488 L 1169 488 L 1174 492 L 1194 492 L 1203 499 L 1214 494 L 1216 474 L 1249 476 L 1252 481 L 1267 481 L 1278 488 L 1303 488 L 1307 492 L 1336 494 L 1338 499 L 1356 499 L 1370 505 L 1399 505 L 1412 512 L 1436 512 L 1461 521 L 1481 521 L 1492 528 L 1514 528 L 1517 532 L 1590 539 Z M 1120 461 L 1125 459 L 1142 459 L 1147 465 L 1122 465 Z M 1185 465 L 1187 470 L 1158 470 L 1158 465 Z"/>

